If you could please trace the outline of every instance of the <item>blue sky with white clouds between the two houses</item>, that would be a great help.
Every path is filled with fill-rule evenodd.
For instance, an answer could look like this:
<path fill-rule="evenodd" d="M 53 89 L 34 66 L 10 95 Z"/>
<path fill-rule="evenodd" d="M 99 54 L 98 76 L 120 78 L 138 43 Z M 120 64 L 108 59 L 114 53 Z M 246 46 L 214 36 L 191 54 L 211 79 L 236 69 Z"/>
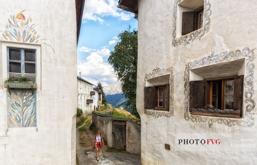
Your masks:
<path fill-rule="evenodd" d="M 110 51 L 119 42 L 122 31 L 137 29 L 134 14 L 118 9 L 118 0 L 87 0 L 77 47 L 77 74 L 96 84 L 108 86 L 117 82 L 114 70 L 107 63 Z"/>

